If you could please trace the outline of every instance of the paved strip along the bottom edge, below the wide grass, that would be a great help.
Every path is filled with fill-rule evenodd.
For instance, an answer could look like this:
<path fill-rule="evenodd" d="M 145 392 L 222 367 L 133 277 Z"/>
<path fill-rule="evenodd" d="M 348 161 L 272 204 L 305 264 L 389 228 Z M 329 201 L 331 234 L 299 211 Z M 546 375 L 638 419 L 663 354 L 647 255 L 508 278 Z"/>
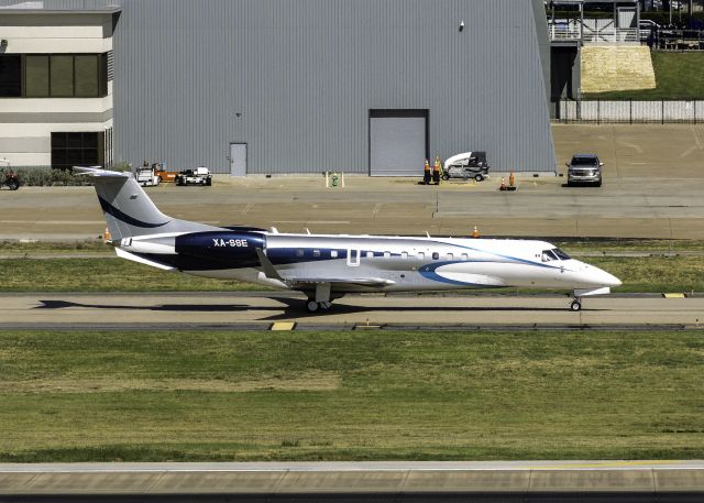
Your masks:
<path fill-rule="evenodd" d="M 702 473 L 688 461 L 0 464 L 0 501 L 696 502 Z"/>

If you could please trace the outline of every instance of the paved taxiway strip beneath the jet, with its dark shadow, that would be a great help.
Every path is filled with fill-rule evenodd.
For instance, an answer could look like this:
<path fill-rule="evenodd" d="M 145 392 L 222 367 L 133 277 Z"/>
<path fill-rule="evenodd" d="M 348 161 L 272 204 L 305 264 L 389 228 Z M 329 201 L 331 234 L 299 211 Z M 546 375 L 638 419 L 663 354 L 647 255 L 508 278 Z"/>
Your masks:
<path fill-rule="evenodd" d="M 704 328 L 704 297 L 349 295 L 320 314 L 289 293 L 4 294 L 0 328 Z M 290 325 L 289 325 L 290 328 Z"/>

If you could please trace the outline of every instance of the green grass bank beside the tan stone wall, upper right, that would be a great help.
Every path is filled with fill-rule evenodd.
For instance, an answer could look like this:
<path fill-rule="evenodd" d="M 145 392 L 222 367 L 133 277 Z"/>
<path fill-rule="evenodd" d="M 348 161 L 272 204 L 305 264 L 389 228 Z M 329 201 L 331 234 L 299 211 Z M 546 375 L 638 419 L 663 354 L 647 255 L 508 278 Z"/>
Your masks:
<path fill-rule="evenodd" d="M 651 53 L 656 88 L 590 92 L 584 99 L 704 99 L 704 53 Z"/>

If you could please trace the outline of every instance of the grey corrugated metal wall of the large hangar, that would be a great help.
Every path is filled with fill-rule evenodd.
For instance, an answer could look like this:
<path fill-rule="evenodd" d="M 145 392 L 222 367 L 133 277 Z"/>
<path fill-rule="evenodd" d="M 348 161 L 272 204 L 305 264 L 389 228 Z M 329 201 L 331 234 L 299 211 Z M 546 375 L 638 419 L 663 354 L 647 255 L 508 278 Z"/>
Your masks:
<path fill-rule="evenodd" d="M 554 170 L 539 0 L 116 3 L 118 160 L 369 173 L 369 110 L 429 109 L 432 156 Z"/>

